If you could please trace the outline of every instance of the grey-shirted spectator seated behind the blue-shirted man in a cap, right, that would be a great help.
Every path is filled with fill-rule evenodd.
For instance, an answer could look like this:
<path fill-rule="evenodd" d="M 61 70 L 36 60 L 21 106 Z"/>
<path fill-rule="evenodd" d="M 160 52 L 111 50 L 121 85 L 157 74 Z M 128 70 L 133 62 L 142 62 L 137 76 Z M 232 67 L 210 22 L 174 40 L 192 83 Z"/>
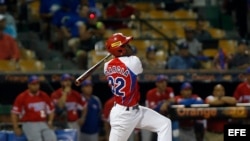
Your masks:
<path fill-rule="evenodd" d="M 197 40 L 195 36 L 195 30 L 191 27 L 185 27 L 185 39 L 178 40 L 178 44 L 187 43 L 189 47 L 189 52 L 195 57 L 203 56 L 202 54 L 202 44 Z M 178 48 L 176 48 L 178 51 Z"/>

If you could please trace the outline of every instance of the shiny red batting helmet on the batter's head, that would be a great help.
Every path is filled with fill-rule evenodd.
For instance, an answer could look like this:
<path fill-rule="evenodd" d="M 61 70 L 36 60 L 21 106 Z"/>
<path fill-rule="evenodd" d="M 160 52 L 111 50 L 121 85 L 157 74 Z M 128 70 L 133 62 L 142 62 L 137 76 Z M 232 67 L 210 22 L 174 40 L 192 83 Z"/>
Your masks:
<path fill-rule="evenodd" d="M 132 39 L 133 37 L 131 36 L 127 37 L 122 33 L 115 33 L 106 41 L 106 49 L 115 57 L 119 57 L 125 53 L 125 48 L 122 46 L 127 44 Z"/>

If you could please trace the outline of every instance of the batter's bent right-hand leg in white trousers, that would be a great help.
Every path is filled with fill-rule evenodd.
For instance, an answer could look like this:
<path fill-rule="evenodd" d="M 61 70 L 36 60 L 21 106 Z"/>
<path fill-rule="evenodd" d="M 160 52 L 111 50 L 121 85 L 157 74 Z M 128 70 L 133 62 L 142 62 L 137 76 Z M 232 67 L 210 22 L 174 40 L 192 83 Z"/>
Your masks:
<path fill-rule="evenodd" d="M 158 141 L 172 141 L 172 127 L 169 118 L 144 106 L 140 106 L 143 116 L 136 128 L 156 132 Z"/>

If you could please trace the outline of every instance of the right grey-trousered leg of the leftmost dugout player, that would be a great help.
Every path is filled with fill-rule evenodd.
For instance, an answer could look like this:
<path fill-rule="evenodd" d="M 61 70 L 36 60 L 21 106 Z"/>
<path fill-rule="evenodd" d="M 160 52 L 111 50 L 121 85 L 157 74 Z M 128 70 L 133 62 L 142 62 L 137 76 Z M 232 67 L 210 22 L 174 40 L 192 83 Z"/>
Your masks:
<path fill-rule="evenodd" d="M 41 122 L 39 126 L 42 129 L 42 138 L 44 141 L 57 141 L 54 130 L 50 129 L 46 123 Z"/>

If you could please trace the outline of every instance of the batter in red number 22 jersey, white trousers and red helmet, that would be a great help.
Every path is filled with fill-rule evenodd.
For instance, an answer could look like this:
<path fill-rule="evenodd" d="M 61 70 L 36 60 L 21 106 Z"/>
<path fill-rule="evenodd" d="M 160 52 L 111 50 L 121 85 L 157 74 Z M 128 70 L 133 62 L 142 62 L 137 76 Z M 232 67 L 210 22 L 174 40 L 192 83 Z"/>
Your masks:
<path fill-rule="evenodd" d="M 157 132 L 158 141 L 172 141 L 170 119 L 139 105 L 137 75 L 143 68 L 129 45 L 132 38 L 115 33 L 106 41 L 106 49 L 114 56 L 104 64 L 104 74 L 115 98 L 110 112 L 109 141 L 127 141 L 135 128 Z"/>

